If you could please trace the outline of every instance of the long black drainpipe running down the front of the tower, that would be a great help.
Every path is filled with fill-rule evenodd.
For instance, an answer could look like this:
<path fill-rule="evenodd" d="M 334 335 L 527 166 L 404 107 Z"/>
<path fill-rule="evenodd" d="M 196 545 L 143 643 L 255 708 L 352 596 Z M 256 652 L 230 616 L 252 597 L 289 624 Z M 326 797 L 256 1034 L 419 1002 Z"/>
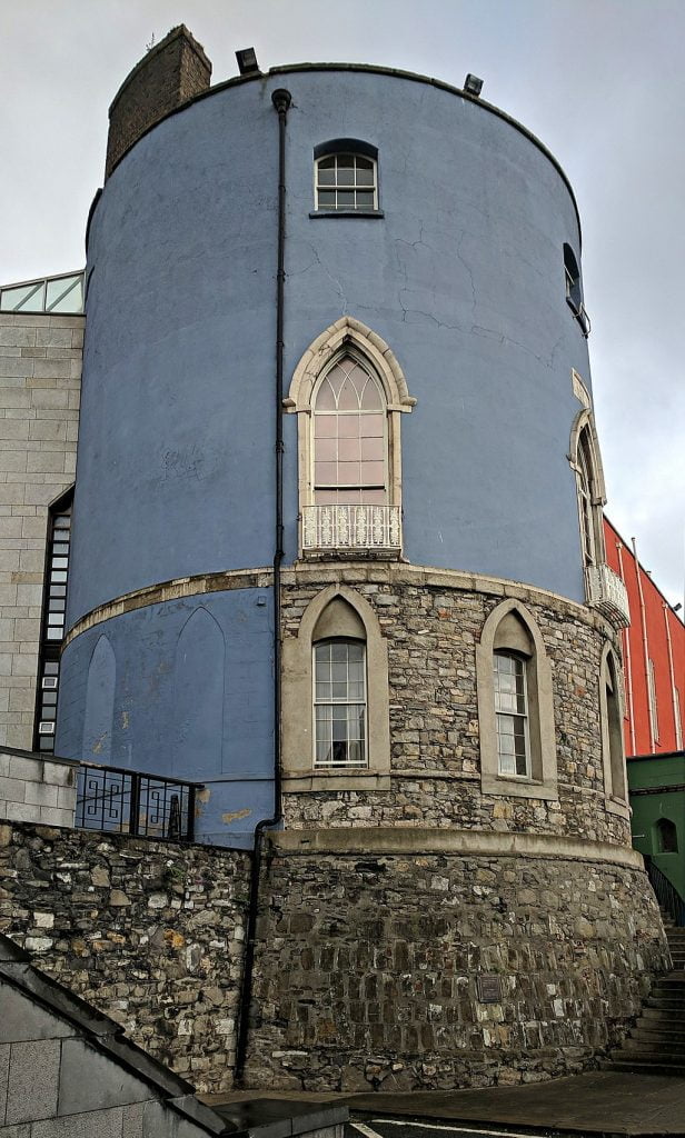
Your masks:
<path fill-rule="evenodd" d="M 283 312 L 286 290 L 286 116 L 292 101 L 289 91 L 279 88 L 271 96 L 279 116 L 279 237 L 275 318 L 275 387 L 274 387 L 274 459 L 275 459 L 275 530 L 273 553 L 273 817 L 255 826 L 255 846 L 250 866 L 245 959 L 238 1006 L 236 1039 L 236 1083 L 241 1085 L 247 1057 L 249 1009 L 253 996 L 257 912 L 259 908 L 259 874 L 264 831 L 282 819 L 281 794 L 281 563 L 283 560 Z"/>

